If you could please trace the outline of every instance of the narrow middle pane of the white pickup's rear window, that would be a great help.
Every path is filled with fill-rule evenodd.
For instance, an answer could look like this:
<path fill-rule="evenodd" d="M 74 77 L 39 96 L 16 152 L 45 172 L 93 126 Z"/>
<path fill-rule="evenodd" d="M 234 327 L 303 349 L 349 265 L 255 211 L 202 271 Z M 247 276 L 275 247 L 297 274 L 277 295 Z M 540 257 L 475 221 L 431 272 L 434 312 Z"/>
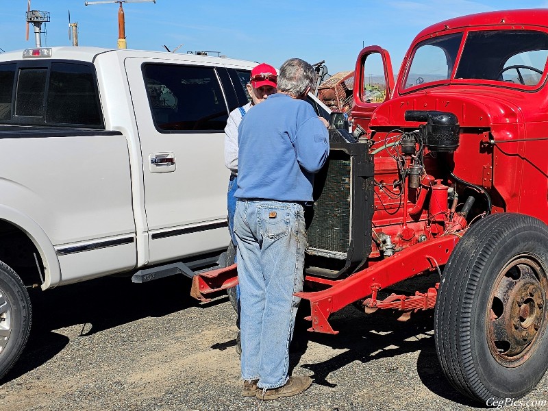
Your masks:
<path fill-rule="evenodd" d="M 17 79 L 16 116 L 43 116 L 47 69 L 21 69 Z"/>

